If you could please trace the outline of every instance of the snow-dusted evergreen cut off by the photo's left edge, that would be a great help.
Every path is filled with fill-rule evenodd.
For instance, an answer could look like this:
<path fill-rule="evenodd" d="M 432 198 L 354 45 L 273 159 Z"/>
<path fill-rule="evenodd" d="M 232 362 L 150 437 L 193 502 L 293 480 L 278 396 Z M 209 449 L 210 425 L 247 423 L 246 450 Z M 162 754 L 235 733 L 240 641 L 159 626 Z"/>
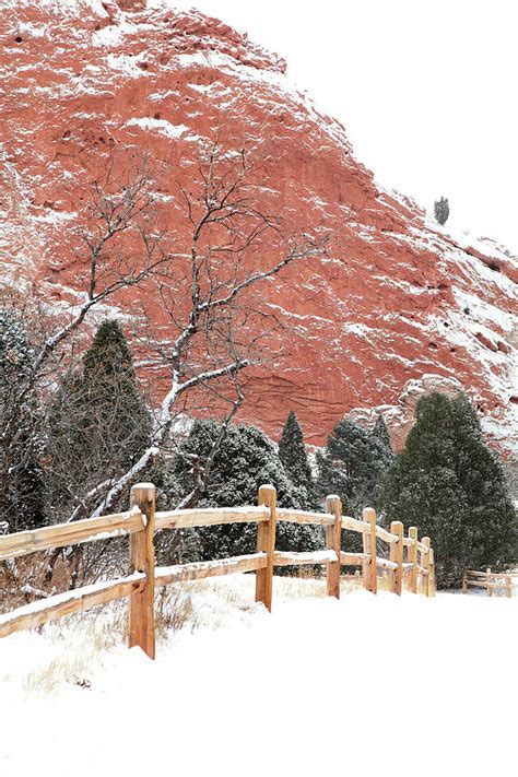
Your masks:
<path fill-rule="evenodd" d="M 19 317 L 0 307 L 0 522 L 9 531 L 46 522 L 44 437 L 33 360 Z"/>

